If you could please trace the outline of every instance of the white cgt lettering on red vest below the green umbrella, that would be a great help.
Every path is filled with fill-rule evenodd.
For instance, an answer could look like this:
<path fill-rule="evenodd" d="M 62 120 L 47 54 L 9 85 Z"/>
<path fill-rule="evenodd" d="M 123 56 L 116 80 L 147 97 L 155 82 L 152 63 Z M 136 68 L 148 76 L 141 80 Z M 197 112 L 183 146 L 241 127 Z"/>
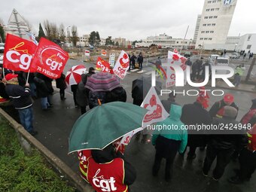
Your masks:
<path fill-rule="evenodd" d="M 96 187 L 101 188 L 102 191 L 114 191 L 117 190 L 117 187 L 114 186 L 115 179 L 114 177 L 110 177 L 109 179 L 105 179 L 103 175 L 98 176 L 100 169 L 98 169 L 93 176 L 93 184 Z"/>

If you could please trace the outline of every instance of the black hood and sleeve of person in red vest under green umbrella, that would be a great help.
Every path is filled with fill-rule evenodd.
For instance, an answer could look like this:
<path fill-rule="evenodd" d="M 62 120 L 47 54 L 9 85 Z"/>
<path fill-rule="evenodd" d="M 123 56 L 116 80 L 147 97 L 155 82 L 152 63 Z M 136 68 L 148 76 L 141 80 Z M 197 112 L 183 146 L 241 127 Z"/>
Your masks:
<path fill-rule="evenodd" d="M 92 150 L 92 157 L 96 163 L 108 163 L 114 158 L 121 158 L 124 161 L 124 180 L 123 183 L 130 185 L 136 180 L 136 169 L 128 163 L 119 151 L 117 153 L 114 151 L 113 145 L 108 145 L 108 147 L 103 150 Z"/>

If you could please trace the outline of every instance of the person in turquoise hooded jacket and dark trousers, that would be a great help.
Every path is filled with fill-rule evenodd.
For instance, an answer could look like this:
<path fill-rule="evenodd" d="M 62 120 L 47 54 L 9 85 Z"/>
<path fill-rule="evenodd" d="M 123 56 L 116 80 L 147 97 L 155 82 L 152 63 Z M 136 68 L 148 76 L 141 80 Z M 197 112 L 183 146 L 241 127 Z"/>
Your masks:
<path fill-rule="evenodd" d="M 161 126 L 177 126 L 177 129 L 155 130 L 152 137 L 152 144 L 155 145 L 156 154 L 152 174 L 157 175 L 160 169 L 161 160 L 166 159 L 165 179 L 169 181 L 172 177 L 172 164 L 177 151 L 183 153 L 187 145 L 187 130 L 181 122 L 181 106 L 172 104 L 169 117 L 157 123 Z"/>

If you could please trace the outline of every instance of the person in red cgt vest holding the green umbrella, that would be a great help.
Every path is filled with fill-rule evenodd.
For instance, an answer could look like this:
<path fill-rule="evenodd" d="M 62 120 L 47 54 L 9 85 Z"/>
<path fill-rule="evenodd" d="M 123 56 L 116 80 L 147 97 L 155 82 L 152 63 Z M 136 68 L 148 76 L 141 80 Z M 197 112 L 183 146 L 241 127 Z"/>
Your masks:
<path fill-rule="evenodd" d="M 130 191 L 136 180 L 136 169 L 112 144 L 103 150 L 78 151 L 78 159 L 81 177 L 97 192 Z"/>

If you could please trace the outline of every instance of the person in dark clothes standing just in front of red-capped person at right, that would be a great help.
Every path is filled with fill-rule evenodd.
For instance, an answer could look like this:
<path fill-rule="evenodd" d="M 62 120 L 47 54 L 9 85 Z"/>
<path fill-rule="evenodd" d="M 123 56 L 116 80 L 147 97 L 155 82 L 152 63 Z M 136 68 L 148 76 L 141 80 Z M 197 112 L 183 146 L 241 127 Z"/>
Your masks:
<path fill-rule="evenodd" d="M 214 117 L 212 124 L 219 127 L 222 125 L 223 127 L 239 127 L 239 122 L 235 120 L 236 115 L 236 108 L 224 106 L 223 117 Z M 247 142 L 245 132 L 243 130 L 224 129 L 217 131 L 218 133 L 210 135 L 206 149 L 206 158 L 203 163 L 203 175 L 207 176 L 213 161 L 217 157 L 217 164 L 212 172 L 212 178 L 215 181 L 218 181 L 218 179 L 224 174 L 225 167 L 230 162 L 235 149 L 242 148 Z"/>

